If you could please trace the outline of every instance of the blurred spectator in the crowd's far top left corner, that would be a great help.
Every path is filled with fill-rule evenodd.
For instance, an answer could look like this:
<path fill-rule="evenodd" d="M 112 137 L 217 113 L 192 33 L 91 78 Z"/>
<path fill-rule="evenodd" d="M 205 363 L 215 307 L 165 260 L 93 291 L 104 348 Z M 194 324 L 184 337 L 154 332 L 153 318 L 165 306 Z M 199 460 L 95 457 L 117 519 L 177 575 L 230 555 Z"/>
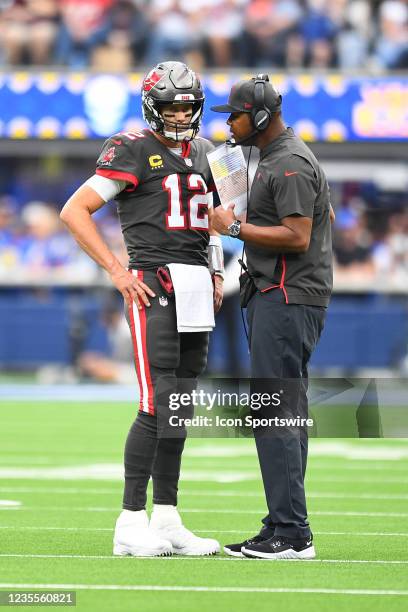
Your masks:
<path fill-rule="evenodd" d="M 53 62 L 58 31 L 58 0 L 3 0 L 0 46 L 9 65 Z"/>

